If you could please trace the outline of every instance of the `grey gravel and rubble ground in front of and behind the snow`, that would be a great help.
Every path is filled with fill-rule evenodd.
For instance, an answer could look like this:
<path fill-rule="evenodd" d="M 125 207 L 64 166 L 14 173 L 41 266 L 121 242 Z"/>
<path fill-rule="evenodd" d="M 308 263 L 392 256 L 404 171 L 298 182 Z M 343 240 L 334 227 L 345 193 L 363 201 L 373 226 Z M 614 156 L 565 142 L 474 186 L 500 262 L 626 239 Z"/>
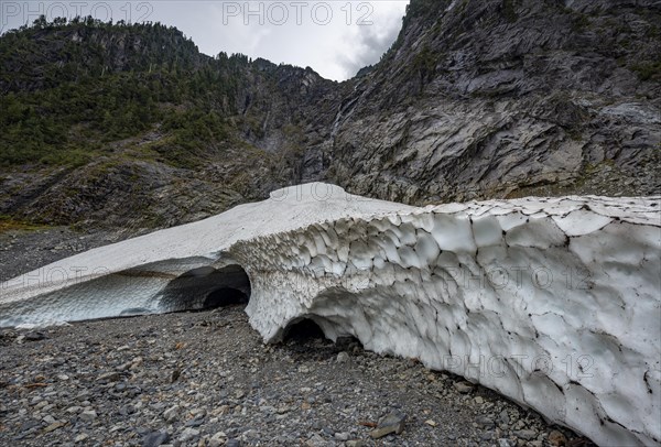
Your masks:
<path fill-rule="evenodd" d="M 119 238 L 4 232 L 2 275 Z M 264 346 L 240 306 L 1 329 L 0 445 L 590 445 L 484 388 L 313 329 Z"/>

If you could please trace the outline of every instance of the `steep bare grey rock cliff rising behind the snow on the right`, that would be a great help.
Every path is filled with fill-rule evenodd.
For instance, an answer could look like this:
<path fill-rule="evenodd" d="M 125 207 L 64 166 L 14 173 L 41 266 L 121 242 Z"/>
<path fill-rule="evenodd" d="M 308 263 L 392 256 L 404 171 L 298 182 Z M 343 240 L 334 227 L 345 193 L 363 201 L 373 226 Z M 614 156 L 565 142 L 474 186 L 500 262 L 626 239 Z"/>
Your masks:
<path fill-rule="evenodd" d="M 395 46 L 343 99 L 314 167 L 414 203 L 658 192 L 652 3 L 414 1 Z"/>

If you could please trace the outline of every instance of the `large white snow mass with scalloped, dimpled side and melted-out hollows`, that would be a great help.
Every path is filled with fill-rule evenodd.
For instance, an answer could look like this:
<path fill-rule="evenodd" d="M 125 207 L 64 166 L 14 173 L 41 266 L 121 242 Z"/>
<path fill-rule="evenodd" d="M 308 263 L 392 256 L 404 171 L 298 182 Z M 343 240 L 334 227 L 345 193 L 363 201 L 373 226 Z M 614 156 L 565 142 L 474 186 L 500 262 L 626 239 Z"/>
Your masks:
<path fill-rule="evenodd" d="M 0 326 L 201 308 L 236 288 L 266 341 L 310 318 L 600 445 L 659 445 L 660 201 L 413 208 L 307 184 L 17 277 Z"/>

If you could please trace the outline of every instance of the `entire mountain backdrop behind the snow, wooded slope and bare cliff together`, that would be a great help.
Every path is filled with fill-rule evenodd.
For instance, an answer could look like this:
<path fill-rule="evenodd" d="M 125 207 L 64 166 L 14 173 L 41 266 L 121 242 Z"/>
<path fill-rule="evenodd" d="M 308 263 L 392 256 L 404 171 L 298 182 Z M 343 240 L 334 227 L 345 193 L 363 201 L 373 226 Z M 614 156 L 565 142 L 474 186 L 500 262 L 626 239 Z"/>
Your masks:
<path fill-rule="evenodd" d="M 0 214 L 162 227 L 316 179 L 415 205 L 659 193 L 658 23 L 651 0 L 413 0 L 342 84 L 159 25 L 8 34 Z"/>

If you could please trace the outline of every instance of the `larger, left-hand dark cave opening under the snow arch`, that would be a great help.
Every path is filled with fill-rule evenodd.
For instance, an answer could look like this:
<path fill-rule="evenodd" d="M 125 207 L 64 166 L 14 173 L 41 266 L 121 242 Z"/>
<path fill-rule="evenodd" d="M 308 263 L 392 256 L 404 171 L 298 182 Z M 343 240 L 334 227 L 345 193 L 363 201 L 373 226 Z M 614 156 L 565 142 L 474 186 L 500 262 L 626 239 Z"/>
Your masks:
<path fill-rule="evenodd" d="M 230 305 L 247 305 L 250 279 L 240 265 L 220 269 L 203 266 L 174 279 L 163 291 L 163 312 L 209 310 Z"/>

